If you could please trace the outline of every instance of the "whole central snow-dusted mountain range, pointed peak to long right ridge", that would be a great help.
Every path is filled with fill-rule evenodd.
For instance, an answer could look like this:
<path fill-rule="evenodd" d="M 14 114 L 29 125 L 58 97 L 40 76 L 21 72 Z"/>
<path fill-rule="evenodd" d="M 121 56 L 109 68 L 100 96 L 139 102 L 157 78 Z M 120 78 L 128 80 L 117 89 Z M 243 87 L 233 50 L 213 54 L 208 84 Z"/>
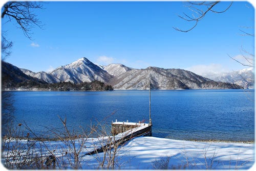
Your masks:
<path fill-rule="evenodd" d="M 98 66 L 87 58 L 60 66 L 53 71 L 37 72 L 23 69 L 24 73 L 44 80 L 56 82 L 92 82 L 94 80 L 110 84 L 114 89 L 232 89 L 242 88 L 235 84 L 212 81 L 183 69 L 148 67 L 133 69 L 122 64 Z"/>

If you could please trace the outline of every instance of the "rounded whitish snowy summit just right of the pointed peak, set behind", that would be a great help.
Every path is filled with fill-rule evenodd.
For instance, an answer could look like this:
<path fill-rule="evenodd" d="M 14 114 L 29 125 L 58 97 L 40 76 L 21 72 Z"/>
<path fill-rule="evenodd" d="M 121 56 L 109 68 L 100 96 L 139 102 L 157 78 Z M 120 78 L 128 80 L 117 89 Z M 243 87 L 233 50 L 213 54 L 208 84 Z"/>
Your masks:
<path fill-rule="evenodd" d="M 119 76 L 126 71 L 132 70 L 132 68 L 124 66 L 122 64 L 109 64 L 104 67 L 104 70 L 107 71 L 112 76 Z"/>

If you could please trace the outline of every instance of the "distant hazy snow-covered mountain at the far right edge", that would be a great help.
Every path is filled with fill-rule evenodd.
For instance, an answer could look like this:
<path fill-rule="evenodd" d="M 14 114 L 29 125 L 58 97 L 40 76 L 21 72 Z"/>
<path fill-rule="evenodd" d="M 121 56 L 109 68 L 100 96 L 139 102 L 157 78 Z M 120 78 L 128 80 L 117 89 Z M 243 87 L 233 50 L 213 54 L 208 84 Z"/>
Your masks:
<path fill-rule="evenodd" d="M 238 84 L 244 88 L 254 88 L 254 73 L 252 67 L 220 74 L 208 73 L 202 76 L 214 81 Z"/>

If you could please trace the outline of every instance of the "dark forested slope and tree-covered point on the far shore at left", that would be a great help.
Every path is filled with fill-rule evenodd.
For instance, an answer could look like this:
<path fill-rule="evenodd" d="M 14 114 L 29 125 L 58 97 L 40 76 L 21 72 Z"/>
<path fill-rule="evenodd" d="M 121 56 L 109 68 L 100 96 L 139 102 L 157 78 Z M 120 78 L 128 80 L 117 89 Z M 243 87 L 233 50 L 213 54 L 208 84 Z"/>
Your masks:
<path fill-rule="evenodd" d="M 46 90 L 46 91 L 110 91 L 111 85 L 101 81 L 47 83 L 23 73 L 18 67 L 2 61 L 2 90 Z"/>

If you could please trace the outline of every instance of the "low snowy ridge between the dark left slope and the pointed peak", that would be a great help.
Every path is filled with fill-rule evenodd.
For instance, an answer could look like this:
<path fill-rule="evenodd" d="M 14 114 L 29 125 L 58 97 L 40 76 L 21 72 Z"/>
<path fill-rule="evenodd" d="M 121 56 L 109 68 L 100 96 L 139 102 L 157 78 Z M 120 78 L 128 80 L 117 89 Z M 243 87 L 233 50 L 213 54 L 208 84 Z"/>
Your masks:
<path fill-rule="evenodd" d="M 20 70 L 22 70 L 24 72 L 24 74 L 26 74 L 28 76 L 38 78 L 38 79 L 43 80 L 47 83 L 58 83 L 58 82 L 60 82 L 60 80 L 58 78 L 56 78 L 53 75 L 50 75 L 50 74 L 48 74 L 47 72 L 44 72 L 44 71 L 33 72 L 31 70 L 22 69 L 22 68 L 20 68 Z"/>

